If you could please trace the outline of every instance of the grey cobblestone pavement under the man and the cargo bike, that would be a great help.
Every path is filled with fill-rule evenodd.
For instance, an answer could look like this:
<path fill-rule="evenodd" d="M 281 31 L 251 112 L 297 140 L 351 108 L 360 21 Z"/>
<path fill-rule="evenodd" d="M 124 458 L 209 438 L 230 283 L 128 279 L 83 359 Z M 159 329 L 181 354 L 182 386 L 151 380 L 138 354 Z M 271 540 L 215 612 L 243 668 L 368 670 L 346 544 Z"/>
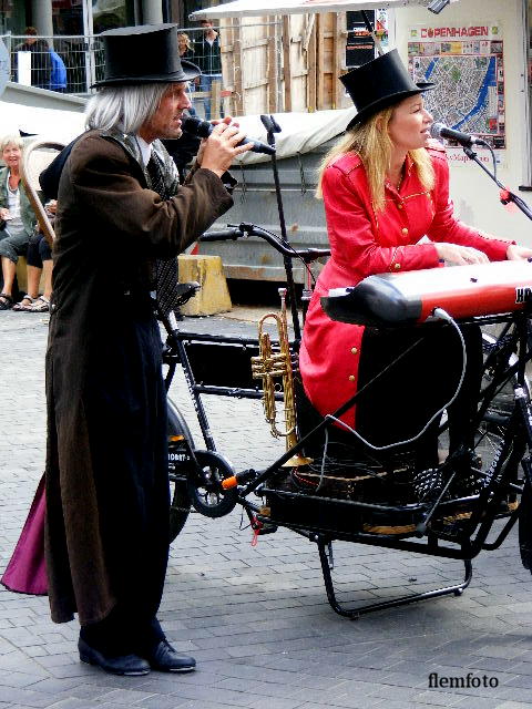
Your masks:
<path fill-rule="evenodd" d="M 246 329 L 225 318 L 193 325 Z M 0 569 L 44 462 L 45 338 L 45 317 L 0 314 Z M 192 421 L 180 378 L 172 397 Z M 257 466 L 282 452 L 258 402 L 212 398 L 207 409 L 218 448 L 235 465 Z M 327 604 L 314 544 L 280 530 L 252 547 L 239 526 L 238 511 L 217 521 L 191 515 L 172 546 L 161 619 L 175 646 L 197 658 L 191 675 L 119 678 L 82 665 L 75 623 L 53 625 L 47 598 L 2 588 L 0 709 L 532 707 L 532 579 L 515 534 L 475 559 L 461 597 L 350 621 Z M 462 574 L 459 562 L 346 543 L 335 544 L 335 559 L 342 599 L 388 598 Z M 471 674 L 471 686 L 431 689 L 431 672 L 464 682 Z"/>

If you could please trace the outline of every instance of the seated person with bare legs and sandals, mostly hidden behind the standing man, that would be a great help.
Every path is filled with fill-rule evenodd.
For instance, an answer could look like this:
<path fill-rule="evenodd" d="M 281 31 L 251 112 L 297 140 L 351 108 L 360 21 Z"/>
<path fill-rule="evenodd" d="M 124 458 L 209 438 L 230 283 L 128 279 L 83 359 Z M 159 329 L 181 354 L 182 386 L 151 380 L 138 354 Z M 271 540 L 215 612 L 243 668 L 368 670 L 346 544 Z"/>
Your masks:
<path fill-rule="evenodd" d="M 51 199 L 47 203 L 45 209 L 53 225 L 53 218 L 58 203 Z M 20 302 L 13 306 L 13 310 L 27 312 L 47 312 L 50 308 L 50 296 L 52 295 L 52 249 L 47 242 L 44 234 L 37 233 L 30 238 L 25 255 L 28 292 Z M 44 292 L 39 296 L 39 285 L 41 274 L 44 275 Z"/>

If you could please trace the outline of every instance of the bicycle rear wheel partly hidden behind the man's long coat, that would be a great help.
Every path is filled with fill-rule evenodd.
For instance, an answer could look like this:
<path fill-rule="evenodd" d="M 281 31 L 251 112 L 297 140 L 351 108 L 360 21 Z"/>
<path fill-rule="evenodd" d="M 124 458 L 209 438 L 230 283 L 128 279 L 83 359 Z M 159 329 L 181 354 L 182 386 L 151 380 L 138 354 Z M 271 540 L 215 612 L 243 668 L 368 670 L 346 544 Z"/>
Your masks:
<path fill-rule="evenodd" d="M 188 446 L 194 442 L 191 431 L 181 411 L 171 399 L 167 400 L 167 436 L 168 436 L 168 481 L 171 491 L 170 504 L 170 543 L 172 543 L 185 526 L 191 512 L 191 495 L 186 474 L 180 470 L 180 463 L 185 460 Z"/>

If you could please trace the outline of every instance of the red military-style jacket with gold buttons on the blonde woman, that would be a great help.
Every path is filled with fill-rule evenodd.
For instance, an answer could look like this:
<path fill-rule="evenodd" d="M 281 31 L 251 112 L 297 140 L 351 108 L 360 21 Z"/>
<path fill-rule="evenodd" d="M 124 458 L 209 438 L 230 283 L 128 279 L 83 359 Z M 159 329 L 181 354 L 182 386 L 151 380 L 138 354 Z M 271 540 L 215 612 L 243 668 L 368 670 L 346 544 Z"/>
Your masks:
<path fill-rule="evenodd" d="M 444 148 L 428 148 L 436 173 L 426 189 L 410 156 L 399 191 L 386 183 L 386 206 L 376 214 L 366 169 L 356 153 L 341 155 L 325 171 L 324 204 L 331 256 L 321 271 L 308 309 L 299 367 L 305 391 L 321 413 L 331 413 L 357 391 L 364 327 L 331 320 L 320 297 L 329 288 L 355 286 L 374 274 L 442 266 L 430 242 L 471 246 L 490 260 L 504 260 L 510 242 L 495 239 L 459 222 L 449 198 Z M 421 237 L 429 243 L 418 244 Z M 342 420 L 355 425 L 355 408 Z"/>

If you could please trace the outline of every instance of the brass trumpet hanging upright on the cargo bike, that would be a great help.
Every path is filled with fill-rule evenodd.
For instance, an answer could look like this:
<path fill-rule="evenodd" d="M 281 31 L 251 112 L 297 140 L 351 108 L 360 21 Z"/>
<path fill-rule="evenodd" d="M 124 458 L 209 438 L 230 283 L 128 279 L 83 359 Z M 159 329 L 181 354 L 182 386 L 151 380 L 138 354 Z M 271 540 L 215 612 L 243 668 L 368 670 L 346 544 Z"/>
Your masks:
<path fill-rule="evenodd" d="M 298 439 L 291 354 L 286 318 L 286 288 L 279 288 L 280 315 L 268 312 L 260 318 L 258 322 L 258 348 L 260 353 L 258 357 L 252 357 L 252 374 L 254 379 L 263 380 L 264 415 L 272 429 L 272 435 L 276 439 L 286 438 L 286 450 L 288 451 L 296 445 Z M 264 331 L 264 323 L 268 319 L 277 323 L 279 337 L 278 353 L 273 351 L 270 337 L 268 332 Z M 279 431 L 277 427 L 275 392 L 278 391 L 279 383 L 275 381 L 276 378 L 282 380 L 280 387 L 283 388 L 285 418 L 284 431 Z M 296 454 L 284 464 L 284 467 L 297 467 L 298 465 L 307 465 L 311 462 L 311 458 Z"/>

